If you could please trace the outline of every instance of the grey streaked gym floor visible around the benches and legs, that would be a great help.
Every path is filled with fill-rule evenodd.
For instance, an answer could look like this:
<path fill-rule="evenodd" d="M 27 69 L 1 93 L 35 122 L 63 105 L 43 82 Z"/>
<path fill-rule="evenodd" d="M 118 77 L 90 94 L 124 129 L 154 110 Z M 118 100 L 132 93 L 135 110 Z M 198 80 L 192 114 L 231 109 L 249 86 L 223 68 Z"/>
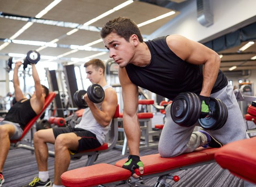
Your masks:
<path fill-rule="evenodd" d="M 162 114 L 157 113 L 152 119 L 152 124 L 162 123 Z M 30 133 L 26 138 L 30 137 Z M 26 141 L 22 143 L 28 144 Z M 49 150 L 53 151 L 54 146 L 49 144 Z M 158 153 L 158 149 L 146 149 L 140 152 L 141 155 L 149 155 Z M 120 149 L 112 149 L 106 153 L 102 153 L 98 156 L 97 163 L 109 163 L 114 164 L 120 159 L 125 159 L 126 155 L 121 155 Z M 69 170 L 78 167 L 83 167 L 87 161 L 87 156 L 83 156 L 79 160 L 72 160 L 70 162 Z M 54 180 L 54 158 L 48 159 L 48 170 L 50 179 Z M 210 171 L 210 172 L 208 172 Z M 32 179 L 38 176 L 38 167 L 36 159 L 31 151 L 25 149 L 13 149 L 9 151 L 6 163 L 4 165 L 4 178 L 5 183 L 3 187 L 19 187 L 32 181 Z M 174 187 L 243 187 L 243 181 L 238 177 L 231 175 L 229 171 L 220 168 L 217 163 L 211 163 L 188 169 L 187 171 L 179 171 L 172 173 L 171 175 L 178 175 L 180 181 L 175 183 L 169 179 L 171 185 Z M 146 185 L 154 185 L 156 177 L 147 179 L 144 181 Z"/>

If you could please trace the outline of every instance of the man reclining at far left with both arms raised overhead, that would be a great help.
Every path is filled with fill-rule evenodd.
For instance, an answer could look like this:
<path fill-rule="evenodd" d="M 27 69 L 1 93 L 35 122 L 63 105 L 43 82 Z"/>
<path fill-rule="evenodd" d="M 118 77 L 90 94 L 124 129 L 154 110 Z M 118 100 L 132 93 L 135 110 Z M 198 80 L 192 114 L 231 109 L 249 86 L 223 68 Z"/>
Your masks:
<path fill-rule="evenodd" d="M 4 183 L 2 171 L 10 149 L 10 140 L 19 139 L 22 136 L 24 127 L 41 112 L 45 98 L 49 94 L 48 88 L 40 84 L 35 64 L 31 64 L 35 92 L 30 99 L 24 96 L 18 79 L 18 69 L 21 65 L 22 62 L 16 62 L 13 72 L 14 94 L 17 102 L 10 108 L 4 120 L 0 122 L 0 187 Z"/>

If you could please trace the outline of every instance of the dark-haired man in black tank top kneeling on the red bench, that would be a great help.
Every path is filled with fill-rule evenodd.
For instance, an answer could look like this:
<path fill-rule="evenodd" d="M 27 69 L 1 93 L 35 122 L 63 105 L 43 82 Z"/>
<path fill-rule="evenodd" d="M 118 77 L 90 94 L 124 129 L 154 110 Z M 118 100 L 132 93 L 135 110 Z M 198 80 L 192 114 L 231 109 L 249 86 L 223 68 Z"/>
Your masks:
<path fill-rule="evenodd" d="M 247 138 L 243 117 L 226 76 L 219 70 L 220 57 L 206 46 L 179 35 L 159 37 L 143 42 L 136 23 L 118 17 L 107 22 L 100 35 L 110 58 L 119 65 L 118 76 L 124 101 L 123 121 L 130 156 L 123 167 L 143 174 L 139 157 L 140 125 L 138 124 L 138 86 L 174 99 L 181 92 L 194 92 L 202 102 L 202 116 L 209 111 L 209 97 L 220 98 L 228 107 L 228 120 L 215 131 L 196 131 L 195 127 L 180 127 L 170 117 L 162 131 L 158 150 L 162 157 L 173 157 L 194 151 L 200 146 L 221 147 L 223 144 Z M 237 124 L 232 127 L 233 123 Z M 236 129 L 236 130 L 234 130 Z M 133 168 L 133 169 L 132 169 Z"/>

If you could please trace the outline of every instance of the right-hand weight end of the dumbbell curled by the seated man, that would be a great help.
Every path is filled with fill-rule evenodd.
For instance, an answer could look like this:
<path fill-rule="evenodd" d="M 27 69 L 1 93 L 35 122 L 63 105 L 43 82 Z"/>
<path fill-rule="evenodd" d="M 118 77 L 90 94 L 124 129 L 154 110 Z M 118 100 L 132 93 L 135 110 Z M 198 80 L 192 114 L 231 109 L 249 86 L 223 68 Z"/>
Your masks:
<path fill-rule="evenodd" d="M 99 84 L 92 84 L 87 89 L 87 95 L 93 103 L 100 103 L 105 98 L 103 88 Z"/>

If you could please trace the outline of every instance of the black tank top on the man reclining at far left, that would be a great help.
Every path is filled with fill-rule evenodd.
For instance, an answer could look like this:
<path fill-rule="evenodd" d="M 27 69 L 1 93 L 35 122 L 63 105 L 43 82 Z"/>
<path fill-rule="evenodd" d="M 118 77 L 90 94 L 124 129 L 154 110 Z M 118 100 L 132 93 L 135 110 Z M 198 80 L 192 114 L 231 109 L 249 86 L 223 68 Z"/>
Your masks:
<path fill-rule="evenodd" d="M 20 127 L 24 129 L 27 123 L 36 116 L 36 112 L 30 105 L 30 99 L 21 102 L 24 99 L 16 102 L 6 114 L 4 120 L 19 123 Z"/>

